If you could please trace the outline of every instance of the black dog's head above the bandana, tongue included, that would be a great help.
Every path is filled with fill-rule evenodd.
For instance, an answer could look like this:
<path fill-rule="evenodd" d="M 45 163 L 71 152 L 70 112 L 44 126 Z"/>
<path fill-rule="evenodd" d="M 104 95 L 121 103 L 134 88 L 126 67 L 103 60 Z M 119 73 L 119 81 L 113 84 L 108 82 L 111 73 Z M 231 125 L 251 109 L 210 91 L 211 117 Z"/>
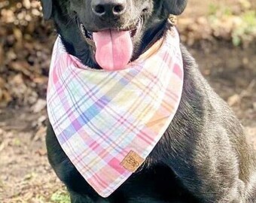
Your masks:
<path fill-rule="evenodd" d="M 187 0 L 42 0 L 66 50 L 92 68 L 120 69 L 163 33 Z"/>

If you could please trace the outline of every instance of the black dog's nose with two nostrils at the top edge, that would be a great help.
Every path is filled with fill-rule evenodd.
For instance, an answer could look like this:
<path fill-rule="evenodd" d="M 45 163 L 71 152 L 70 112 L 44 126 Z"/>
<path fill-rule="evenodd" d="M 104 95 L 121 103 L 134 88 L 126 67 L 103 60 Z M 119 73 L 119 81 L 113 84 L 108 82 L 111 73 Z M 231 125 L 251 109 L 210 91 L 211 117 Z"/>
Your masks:
<path fill-rule="evenodd" d="M 126 11 L 126 0 L 94 0 L 91 6 L 99 17 L 120 17 Z"/>

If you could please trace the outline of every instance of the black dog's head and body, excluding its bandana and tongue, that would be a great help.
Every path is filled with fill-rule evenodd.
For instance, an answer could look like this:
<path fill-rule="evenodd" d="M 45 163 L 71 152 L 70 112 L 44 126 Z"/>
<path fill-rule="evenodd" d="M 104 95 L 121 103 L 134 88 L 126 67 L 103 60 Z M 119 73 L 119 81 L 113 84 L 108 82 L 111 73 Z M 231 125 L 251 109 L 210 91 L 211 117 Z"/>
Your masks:
<path fill-rule="evenodd" d="M 181 14 L 187 1 L 42 0 L 42 3 L 44 17 L 54 20 L 66 50 L 84 65 L 100 68 L 91 43 L 93 32 L 130 29 L 134 60 L 161 38 L 169 14 Z M 184 89 L 178 112 L 145 164 L 108 198 L 99 196 L 78 173 L 49 126 L 48 158 L 69 189 L 73 203 L 256 202 L 256 162 L 242 126 L 182 45 L 181 52 Z"/>

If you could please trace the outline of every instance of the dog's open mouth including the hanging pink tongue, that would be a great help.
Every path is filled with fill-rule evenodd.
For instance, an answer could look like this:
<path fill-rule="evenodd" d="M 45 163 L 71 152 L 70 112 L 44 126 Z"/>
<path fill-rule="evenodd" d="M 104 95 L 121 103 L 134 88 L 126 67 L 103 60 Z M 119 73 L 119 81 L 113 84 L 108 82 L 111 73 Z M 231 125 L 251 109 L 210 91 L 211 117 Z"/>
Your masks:
<path fill-rule="evenodd" d="M 141 32 L 142 23 L 143 19 L 140 17 L 135 26 L 90 32 L 78 20 L 81 35 L 95 50 L 96 62 L 108 71 L 126 68 L 133 55 L 133 41 Z"/>

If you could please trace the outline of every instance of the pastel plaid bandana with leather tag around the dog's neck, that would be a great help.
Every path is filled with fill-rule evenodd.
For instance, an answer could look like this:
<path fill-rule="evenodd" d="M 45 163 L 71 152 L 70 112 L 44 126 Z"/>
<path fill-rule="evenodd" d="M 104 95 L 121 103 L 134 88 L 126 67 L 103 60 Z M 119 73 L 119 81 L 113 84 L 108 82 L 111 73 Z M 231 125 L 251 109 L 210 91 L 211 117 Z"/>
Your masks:
<path fill-rule="evenodd" d="M 120 71 L 81 64 L 57 38 L 47 111 L 75 168 L 99 195 L 108 197 L 142 165 L 166 131 L 182 86 L 183 64 L 174 27 Z"/>

